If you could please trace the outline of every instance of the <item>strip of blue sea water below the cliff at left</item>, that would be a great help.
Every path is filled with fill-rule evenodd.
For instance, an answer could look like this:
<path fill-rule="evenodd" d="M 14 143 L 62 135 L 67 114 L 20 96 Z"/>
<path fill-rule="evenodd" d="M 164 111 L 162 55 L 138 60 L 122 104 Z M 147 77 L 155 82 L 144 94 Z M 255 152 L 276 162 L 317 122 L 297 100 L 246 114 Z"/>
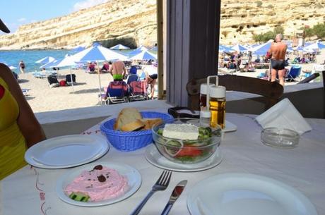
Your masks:
<path fill-rule="evenodd" d="M 61 60 L 64 59 L 66 54 L 75 54 L 71 50 L 61 49 L 61 50 L 12 50 L 12 51 L 0 51 L 0 62 L 6 63 L 7 66 L 15 66 L 14 72 L 20 73 L 19 62 L 24 61 L 25 63 L 25 73 L 35 72 L 35 70 L 40 71 L 40 66 L 42 64 L 35 63 L 42 58 L 47 56 L 52 56 L 54 59 Z"/>

